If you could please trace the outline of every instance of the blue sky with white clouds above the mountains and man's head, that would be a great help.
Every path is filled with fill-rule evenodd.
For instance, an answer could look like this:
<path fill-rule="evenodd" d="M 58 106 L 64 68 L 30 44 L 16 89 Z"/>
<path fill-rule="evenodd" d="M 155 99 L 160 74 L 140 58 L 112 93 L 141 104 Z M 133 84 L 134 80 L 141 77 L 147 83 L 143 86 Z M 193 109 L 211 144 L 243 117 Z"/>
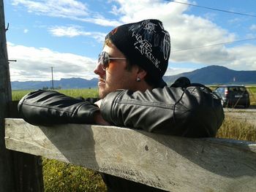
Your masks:
<path fill-rule="evenodd" d="M 255 0 L 4 0 L 8 57 L 16 60 L 10 78 L 51 80 L 51 69 L 54 80 L 97 77 L 105 35 L 149 18 L 170 34 L 165 75 L 211 65 L 256 70 L 255 7 Z"/>

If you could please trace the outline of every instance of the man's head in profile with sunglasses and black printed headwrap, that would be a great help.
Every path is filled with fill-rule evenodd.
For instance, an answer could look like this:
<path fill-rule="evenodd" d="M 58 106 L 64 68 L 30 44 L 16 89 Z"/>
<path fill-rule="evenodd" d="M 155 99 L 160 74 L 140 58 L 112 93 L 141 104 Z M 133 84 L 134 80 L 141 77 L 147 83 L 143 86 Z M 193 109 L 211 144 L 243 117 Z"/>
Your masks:
<path fill-rule="evenodd" d="M 169 55 L 170 36 L 159 20 L 143 20 L 114 28 L 105 38 L 94 70 L 99 75 L 99 98 L 118 89 L 146 91 L 163 87 L 166 84 L 162 76 Z"/>

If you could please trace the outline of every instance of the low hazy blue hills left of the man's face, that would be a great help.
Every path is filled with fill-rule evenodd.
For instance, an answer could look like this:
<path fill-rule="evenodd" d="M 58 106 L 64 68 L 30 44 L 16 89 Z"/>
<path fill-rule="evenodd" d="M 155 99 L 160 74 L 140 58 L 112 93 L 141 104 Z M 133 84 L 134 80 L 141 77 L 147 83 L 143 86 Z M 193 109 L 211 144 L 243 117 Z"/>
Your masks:
<path fill-rule="evenodd" d="M 96 88 L 98 79 L 94 78 L 91 80 L 85 80 L 82 78 L 69 78 L 69 79 L 61 79 L 61 80 L 53 80 L 54 88 L 61 89 L 70 89 L 70 88 Z M 26 81 L 19 82 L 13 81 L 11 82 L 12 90 L 35 90 L 42 88 L 51 88 L 51 81 Z"/>

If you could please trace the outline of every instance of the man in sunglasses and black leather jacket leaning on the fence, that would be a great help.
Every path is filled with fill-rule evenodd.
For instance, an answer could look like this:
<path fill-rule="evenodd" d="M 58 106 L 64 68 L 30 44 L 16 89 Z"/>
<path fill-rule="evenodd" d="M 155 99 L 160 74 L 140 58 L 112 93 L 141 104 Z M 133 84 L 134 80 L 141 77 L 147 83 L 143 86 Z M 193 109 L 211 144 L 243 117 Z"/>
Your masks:
<path fill-rule="evenodd" d="M 33 124 L 97 123 L 183 137 L 214 137 L 224 118 L 219 99 L 184 77 L 167 87 L 162 77 L 169 55 L 170 37 L 161 21 L 118 26 L 106 36 L 94 70 L 99 75 L 100 100 L 35 91 L 20 101 L 20 115 Z M 108 191 L 160 191 L 102 175 Z"/>

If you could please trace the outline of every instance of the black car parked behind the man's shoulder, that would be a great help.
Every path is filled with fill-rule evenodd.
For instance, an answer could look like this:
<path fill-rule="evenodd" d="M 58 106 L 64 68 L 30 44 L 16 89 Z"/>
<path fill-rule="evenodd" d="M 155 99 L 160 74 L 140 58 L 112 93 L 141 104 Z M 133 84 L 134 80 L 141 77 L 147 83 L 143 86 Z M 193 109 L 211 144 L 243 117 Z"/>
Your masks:
<path fill-rule="evenodd" d="M 214 93 L 222 99 L 223 107 L 249 107 L 249 93 L 243 85 L 219 85 Z"/>

